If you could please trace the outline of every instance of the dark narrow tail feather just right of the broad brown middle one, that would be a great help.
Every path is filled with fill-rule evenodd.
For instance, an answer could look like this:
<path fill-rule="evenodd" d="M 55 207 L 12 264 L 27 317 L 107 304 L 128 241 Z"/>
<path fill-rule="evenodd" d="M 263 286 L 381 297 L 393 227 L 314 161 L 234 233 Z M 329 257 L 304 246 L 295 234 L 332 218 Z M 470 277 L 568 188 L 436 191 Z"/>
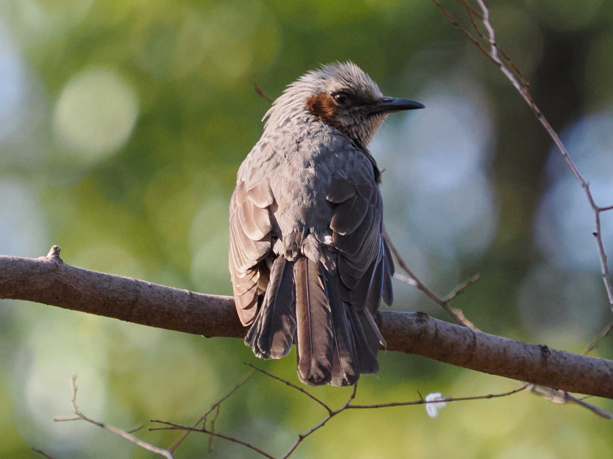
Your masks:
<path fill-rule="evenodd" d="M 332 386 L 352 386 L 360 378 L 356 357 L 356 343 L 349 327 L 348 307 L 336 291 L 337 280 L 324 280 L 324 288 L 332 309 L 333 353 Z"/>

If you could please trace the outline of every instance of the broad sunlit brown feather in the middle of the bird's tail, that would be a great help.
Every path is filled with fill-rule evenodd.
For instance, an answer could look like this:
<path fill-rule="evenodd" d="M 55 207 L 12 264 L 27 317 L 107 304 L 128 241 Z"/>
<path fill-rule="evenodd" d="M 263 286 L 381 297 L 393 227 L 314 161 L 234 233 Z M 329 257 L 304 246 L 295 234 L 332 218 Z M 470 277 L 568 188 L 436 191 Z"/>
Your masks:
<path fill-rule="evenodd" d="M 298 376 L 310 386 L 332 378 L 332 311 L 318 264 L 308 258 L 294 262 L 296 285 L 296 348 Z"/>

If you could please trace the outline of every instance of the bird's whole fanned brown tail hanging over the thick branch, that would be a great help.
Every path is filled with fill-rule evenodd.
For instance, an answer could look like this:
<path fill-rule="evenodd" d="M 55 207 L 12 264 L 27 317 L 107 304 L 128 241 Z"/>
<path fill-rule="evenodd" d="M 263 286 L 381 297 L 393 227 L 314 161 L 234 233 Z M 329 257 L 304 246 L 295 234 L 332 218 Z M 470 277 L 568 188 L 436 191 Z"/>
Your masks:
<path fill-rule="evenodd" d="M 337 285 L 318 263 L 279 256 L 246 345 L 258 357 L 280 359 L 295 341 L 298 376 L 310 386 L 350 386 L 376 373 L 379 330 L 368 308 L 341 299 Z"/>

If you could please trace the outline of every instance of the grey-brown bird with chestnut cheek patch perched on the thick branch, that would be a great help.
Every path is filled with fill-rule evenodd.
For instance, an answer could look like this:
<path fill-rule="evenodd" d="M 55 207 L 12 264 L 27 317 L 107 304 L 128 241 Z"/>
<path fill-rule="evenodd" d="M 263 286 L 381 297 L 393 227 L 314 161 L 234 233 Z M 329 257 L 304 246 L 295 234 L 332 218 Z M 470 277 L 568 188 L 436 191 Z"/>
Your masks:
<path fill-rule="evenodd" d="M 238 170 L 229 258 L 245 344 L 280 359 L 295 343 L 305 384 L 379 370 L 374 316 L 382 298 L 392 304 L 394 263 L 367 147 L 387 114 L 415 108 L 352 62 L 323 65 L 275 100 Z"/>

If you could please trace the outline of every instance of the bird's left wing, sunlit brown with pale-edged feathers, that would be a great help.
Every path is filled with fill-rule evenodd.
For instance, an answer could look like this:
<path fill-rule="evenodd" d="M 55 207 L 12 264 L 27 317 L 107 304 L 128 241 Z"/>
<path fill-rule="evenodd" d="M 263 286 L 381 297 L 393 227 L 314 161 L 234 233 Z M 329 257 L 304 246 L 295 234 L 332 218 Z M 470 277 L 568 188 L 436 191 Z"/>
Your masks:
<path fill-rule="evenodd" d="M 263 291 L 259 285 L 267 283 L 268 266 L 261 262 L 270 253 L 273 201 L 268 183 L 247 189 L 244 181 L 238 182 L 230 200 L 230 276 L 238 317 L 245 326 L 256 316 L 257 296 Z"/>

